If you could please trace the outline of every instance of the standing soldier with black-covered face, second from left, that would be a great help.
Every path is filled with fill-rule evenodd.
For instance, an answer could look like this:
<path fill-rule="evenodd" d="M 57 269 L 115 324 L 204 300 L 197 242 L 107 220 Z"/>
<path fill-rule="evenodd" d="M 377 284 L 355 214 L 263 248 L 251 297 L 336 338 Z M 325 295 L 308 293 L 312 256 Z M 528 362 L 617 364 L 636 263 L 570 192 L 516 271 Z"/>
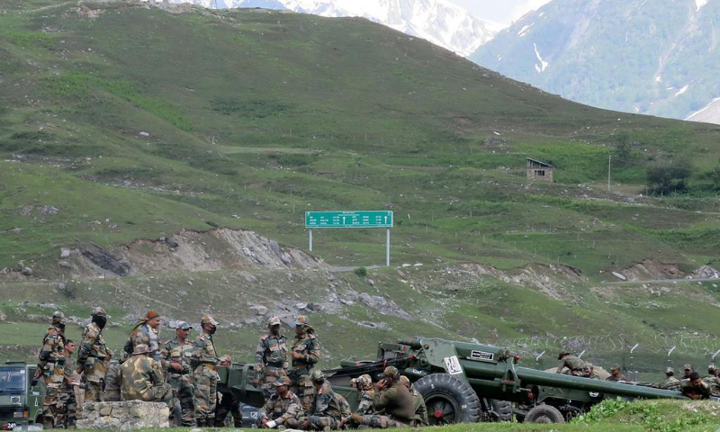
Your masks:
<path fill-rule="evenodd" d="M 94 308 L 92 320 L 83 330 L 83 342 L 77 356 L 77 373 L 83 374 L 85 402 L 99 402 L 103 394 L 107 369 L 105 362 L 110 361 L 103 339 L 103 328 L 108 318 L 103 308 Z"/>

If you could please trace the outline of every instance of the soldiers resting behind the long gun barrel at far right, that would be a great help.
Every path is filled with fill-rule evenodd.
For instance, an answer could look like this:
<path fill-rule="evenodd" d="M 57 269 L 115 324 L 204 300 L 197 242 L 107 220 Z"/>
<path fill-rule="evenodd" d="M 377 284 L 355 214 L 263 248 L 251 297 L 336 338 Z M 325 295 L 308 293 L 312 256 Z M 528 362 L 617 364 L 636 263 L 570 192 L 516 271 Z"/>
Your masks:
<path fill-rule="evenodd" d="M 582 376 L 586 378 L 598 379 L 594 366 L 578 356 L 572 356 L 568 352 L 562 352 L 558 356 L 560 365 L 555 371 L 563 374 L 567 370 L 568 374 Z M 720 397 L 720 369 L 716 365 L 707 366 L 707 376 L 701 377 L 695 372 L 692 365 L 683 366 L 684 375 L 681 379 L 675 377 L 675 371 L 672 367 L 665 370 L 665 381 L 662 383 L 654 383 L 653 387 L 665 390 L 674 390 L 682 392 L 690 399 L 699 400 L 709 397 Z M 628 381 L 626 376 L 620 372 L 620 366 L 612 365 L 610 367 L 610 375 L 605 381 L 623 382 Z"/>

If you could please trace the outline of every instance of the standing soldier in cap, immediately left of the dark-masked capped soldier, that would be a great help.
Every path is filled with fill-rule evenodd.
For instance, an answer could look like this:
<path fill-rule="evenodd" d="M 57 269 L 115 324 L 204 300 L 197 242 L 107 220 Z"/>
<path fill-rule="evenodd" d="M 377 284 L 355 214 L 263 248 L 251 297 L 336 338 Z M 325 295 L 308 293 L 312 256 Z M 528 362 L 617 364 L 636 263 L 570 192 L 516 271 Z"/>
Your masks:
<path fill-rule="evenodd" d="M 193 406 L 193 371 L 190 358 L 193 356 L 193 342 L 188 340 L 190 327 L 185 321 L 175 325 L 175 339 L 168 340 L 160 351 L 160 363 L 166 371 L 167 383 L 173 387 L 176 401 L 180 401 L 180 424 L 192 427 L 195 419 Z"/>

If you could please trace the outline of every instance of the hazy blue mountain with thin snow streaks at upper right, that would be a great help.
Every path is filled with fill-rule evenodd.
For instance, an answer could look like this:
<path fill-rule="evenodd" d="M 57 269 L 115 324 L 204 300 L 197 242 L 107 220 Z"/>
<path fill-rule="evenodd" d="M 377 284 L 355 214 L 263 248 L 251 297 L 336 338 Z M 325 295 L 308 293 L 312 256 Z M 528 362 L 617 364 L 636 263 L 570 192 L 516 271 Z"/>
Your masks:
<path fill-rule="evenodd" d="M 685 119 L 720 96 L 718 2 L 555 0 L 470 58 L 550 93 Z"/>

